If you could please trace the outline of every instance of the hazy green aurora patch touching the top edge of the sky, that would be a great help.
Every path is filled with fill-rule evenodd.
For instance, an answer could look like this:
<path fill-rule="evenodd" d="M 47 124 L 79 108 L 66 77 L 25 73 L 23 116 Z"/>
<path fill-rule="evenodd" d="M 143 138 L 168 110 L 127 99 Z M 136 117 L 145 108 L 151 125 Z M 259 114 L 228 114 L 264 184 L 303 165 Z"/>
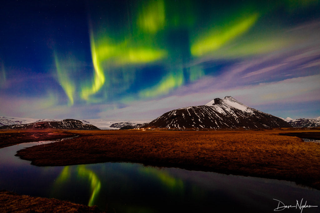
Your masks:
<path fill-rule="evenodd" d="M 144 1 L 137 20 L 138 26 L 149 33 L 156 33 L 165 26 L 164 1 Z"/>

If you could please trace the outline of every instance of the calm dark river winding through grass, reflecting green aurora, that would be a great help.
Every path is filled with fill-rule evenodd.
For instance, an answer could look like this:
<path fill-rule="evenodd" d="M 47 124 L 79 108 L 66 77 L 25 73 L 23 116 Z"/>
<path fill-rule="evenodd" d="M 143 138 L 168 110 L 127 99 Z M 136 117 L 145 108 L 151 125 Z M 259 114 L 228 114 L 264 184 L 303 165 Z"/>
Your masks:
<path fill-rule="evenodd" d="M 108 212 L 275 212 L 281 201 L 280 207 L 294 206 L 281 212 L 300 213 L 295 207 L 302 199 L 318 206 L 302 212 L 320 212 L 320 191 L 290 181 L 132 163 L 38 167 L 14 156 L 20 148 L 42 143 L 0 149 L 0 189 Z"/>

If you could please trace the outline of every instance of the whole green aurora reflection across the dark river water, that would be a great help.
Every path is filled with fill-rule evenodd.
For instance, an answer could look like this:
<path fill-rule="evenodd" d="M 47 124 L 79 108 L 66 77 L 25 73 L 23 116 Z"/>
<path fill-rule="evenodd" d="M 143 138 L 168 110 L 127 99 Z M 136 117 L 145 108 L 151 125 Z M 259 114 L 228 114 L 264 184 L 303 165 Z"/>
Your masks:
<path fill-rule="evenodd" d="M 113 163 L 111 163 L 113 164 Z M 73 187 L 77 184 L 86 184 L 89 182 L 90 184 L 90 198 L 88 201 L 88 206 L 97 205 L 97 203 L 101 202 L 99 195 L 100 190 L 108 191 L 111 190 L 113 186 L 109 185 L 110 179 L 119 178 L 118 171 L 113 168 L 110 163 L 105 163 L 100 169 L 100 171 L 92 171 L 86 168 L 86 165 L 74 165 L 74 166 L 64 166 L 60 175 L 55 180 L 52 187 L 52 197 L 60 197 L 65 193 L 64 190 L 66 186 L 69 184 Z M 152 180 L 156 183 L 156 185 L 160 185 L 162 189 L 165 191 L 176 192 L 177 194 L 183 194 L 185 187 L 184 183 L 181 179 L 176 178 L 169 174 L 166 171 L 162 171 L 159 168 L 143 166 L 140 164 L 120 164 L 120 167 L 117 168 L 119 171 L 123 171 L 124 173 L 137 175 L 140 179 Z M 100 172 L 100 176 L 106 177 L 105 179 L 101 179 L 102 183 L 98 177 L 97 172 Z M 101 173 L 102 172 L 102 173 Z M 121 174 L 121 173 L 120 173 Z M 130 177 L 122 177 L 124 178 L 124 182 L 130 183 Z M 85 181 L 85 182 L 83 182 Z M 75 184 L 76 183 L 76 184 Z M 103 185 L 103 186 L 101 186 Z M 125 187 L 128 190 L 130 187 Z"/>

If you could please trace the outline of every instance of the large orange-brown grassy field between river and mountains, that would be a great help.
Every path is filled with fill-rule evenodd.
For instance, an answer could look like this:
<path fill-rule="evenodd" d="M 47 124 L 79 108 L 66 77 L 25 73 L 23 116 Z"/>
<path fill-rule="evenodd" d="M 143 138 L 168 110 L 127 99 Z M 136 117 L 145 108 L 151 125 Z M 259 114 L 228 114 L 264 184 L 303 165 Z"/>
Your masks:
<path fill-rule="evenodd" d="M 319 129 L 265 131 L 65 131 L 77 138 L 34 146 L 17 156 L 39 166 L 137 162 L 291 180 L 320 189 L 320 143 L 279 135 Z"/>

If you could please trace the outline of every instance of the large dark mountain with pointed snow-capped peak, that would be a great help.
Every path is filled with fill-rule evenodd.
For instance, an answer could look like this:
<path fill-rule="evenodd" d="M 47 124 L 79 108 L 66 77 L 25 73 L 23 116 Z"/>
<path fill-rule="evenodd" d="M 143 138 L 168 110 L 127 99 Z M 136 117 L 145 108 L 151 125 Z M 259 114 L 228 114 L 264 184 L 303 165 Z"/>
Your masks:
<path fill-rule="evenodd" d="M 215 98 L 203 106 L 184 107 L 164 113 L 142 128 L 169 129 L 269 129 L 292 127 L 283 119 L 238 102 L 231 96 Z"/>

